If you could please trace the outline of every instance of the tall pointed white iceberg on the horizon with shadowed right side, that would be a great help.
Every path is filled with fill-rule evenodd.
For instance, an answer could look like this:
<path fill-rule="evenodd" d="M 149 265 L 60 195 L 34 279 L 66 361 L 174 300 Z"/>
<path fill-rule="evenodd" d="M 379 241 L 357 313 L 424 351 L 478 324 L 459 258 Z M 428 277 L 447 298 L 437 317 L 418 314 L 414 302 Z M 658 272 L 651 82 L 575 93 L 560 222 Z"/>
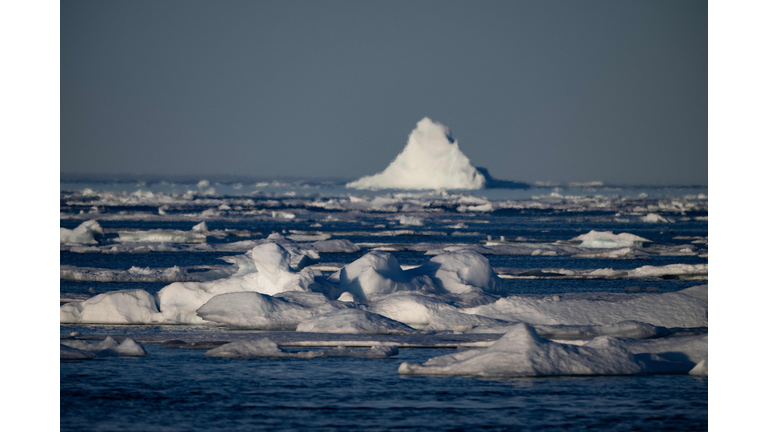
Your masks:
<path fill-rule="evenodd" d="M 493 179 L 459 150 L 448 128 L 424 117 L 408 137 L 403 151 L 382 172 L 346 187 L 354 189 L 483 189 L 528 185 Z"/>

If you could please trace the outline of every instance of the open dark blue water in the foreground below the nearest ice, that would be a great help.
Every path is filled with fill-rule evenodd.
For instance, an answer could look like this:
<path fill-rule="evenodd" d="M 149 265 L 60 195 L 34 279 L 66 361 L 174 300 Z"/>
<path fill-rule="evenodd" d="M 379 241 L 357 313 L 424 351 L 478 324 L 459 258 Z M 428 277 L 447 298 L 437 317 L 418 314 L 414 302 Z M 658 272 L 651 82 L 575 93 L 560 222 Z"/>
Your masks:
<path fill-rule="evenodd" d="M 487 380 L 402 377 L 403 361 L 233 360 L 145 345 L 144 358 L 60 363 L 62 431 L 707 429 L 687 375 Z"/>

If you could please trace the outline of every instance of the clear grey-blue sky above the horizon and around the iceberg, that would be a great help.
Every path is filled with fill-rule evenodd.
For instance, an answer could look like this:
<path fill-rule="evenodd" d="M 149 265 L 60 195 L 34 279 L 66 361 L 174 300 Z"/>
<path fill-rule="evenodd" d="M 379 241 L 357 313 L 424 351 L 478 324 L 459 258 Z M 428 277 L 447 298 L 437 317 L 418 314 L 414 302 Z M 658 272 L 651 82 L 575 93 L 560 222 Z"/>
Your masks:
<path fill-rule="evenodd" d="M 705 1 L 61 2 L 62 174 L 707 184 Z"/>

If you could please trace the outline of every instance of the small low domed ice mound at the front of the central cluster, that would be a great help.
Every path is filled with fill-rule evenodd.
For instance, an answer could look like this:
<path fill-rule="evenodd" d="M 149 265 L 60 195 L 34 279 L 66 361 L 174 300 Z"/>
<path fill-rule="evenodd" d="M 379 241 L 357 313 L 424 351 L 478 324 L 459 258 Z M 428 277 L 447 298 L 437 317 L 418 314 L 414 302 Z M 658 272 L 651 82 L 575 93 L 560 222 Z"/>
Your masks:
<path fill-rule="evenodd" d="M 347 334 L 410 334 L 407 325 L 360 309 L 344 309 L 303 321 L 299 332 Z"/>

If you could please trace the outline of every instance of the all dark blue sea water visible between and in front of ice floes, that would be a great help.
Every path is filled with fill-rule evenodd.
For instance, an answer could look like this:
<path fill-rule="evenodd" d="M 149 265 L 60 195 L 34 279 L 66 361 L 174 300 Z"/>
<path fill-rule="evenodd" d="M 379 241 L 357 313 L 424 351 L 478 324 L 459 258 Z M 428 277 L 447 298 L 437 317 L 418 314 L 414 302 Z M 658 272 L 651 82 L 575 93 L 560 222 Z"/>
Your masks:
<path fill-rule="evenodd" d="M 218 186 L 217 186 L 218 188 Z M 640 191 L 634 191 L 636 196 Z M 647 191 L 646 191 L 647 192 Z M 706 193 L 706 190 L 703 191 Z M 485 193 L 485 192 L 484 192 Z M 489 192 L 490 193 L 490 192 Z M 537 192 L 539 193 L 539 192 Z M 544 192 L 549 193 L 549 192 Z M 649 192 L 650 193 L 650 192 Z M 693 193 L 684 191 L 684 194 Z M 698 192 L 697 192 L 698 193 Z M 529 195 L 530 196 L 530 195 Z M 264 208 L 265 197 L 252 197 Z M 502 198 L 502 197 L 500 197 Z M 504 196 L 504 199 L 509 197 Z M 519 197 L 526 198 L 526 197 Z M 172 214 L 199 213 L 210 205 L 191 203 L 171 208 Z M 62 213 L 88 211 L 88 205 L 62 203 Z M 508 240 L 524 237 L 528 242 L 568 240 L 590 230 L 629 232 L 668 245 L 689 244 L 677 236 L 707 236 L 706 221 L 693 220 L 705 212 L 687 214 L 692 220 L 647 224 L 615 222 L 614 211 L 567 213 L 559 210 L 497 210 L 475 216 L 453 207 L 425 218 L 420 227 L 391 223 L 399 214 L 387 212 L 341 212 L 296 208 L 283 199 L 275 210 L 294 211 L 296 220 L 236 218 L 207 221 L 211 230 L 237 229 L 261 233 L 290 234 L 321 231 L 355 243 L 469 243 L 478 244 L 488 235 Z M 112 206 L 118 212 L 157 213 L 156 206 Z M 326 217 L 344 218 L 327 221 Z M 116 230 L 190 230 L 199 220 L 124 221 L 100 220 L 108 230 L 106 243 L 114 242 Z M 678 216 L 675 216 L 678 218 Z M 629 219 L 633 219 L 629 217 Z M 451 222 L 445 222 L 450 220 Z M 467 228 L 447 228 L 464 221 Z M 481 221 L 487 223 L 481 223 Z M 320 222 L 322 227 L 311 225 Z M 361 223 L 365 222 L 365 224 Z M 81 220 L 61 221 L 74 228 Z M 384 224 L 385 228 L 375 228 Z M 375 232 L 414 230 L 448 235 L 376 236 Z M 452 236 L 453 232 L 476 233 Z M 355 233 L 348 235 L 348 233 Z M 243 237 L 209 237 L 209 243 L 233 242 Z M 703 247 L 705 245 L 696 245 Z M 354 254 L 321 254 L 321 262 L 345 264 L 361 257 Z M 394 252 L 401 264 L 420 265 L 430 256 L 423 252 Z M 60 263 L 78 267 L 127 270 L 132 266 L 223 265 L 218 258 L 231 252 L 152 252 L 147 254 L 101 254 L 61 252 Z M 585 259 L 551 256 L 487 256 L 495 268 L 538 269 L 632 269 L 643 265 L 701 264 L 697 256 L 648 259 Z M 624 292 L 629 286 L 656 287 L 660 292 L 678 291 L 706 281 L 686 280 L 504 280 L 513 294 L 567 292 Z M 88 293 L 117 289 L 157 292 L 165 283 L 103 283 L 61 281 L 62 293 Z M 91 331 L 92 330 L 92 331 Z M 194 326 L 62 326 L 61 332 L 126 335 L 162 334 L 166 331 L 217 331 Z M 687 375 L 631 377 L 557 377 L 483 380 L 465 377 L 401 377 L 403 361 L 422 363 L 450 350 L 401 350 L 387 360 L 329 358 L 314 360 L 237 360 L 204 356 L 204 351 L 169 350 L 145 345 L 143 358 L 103 358 L 60 363 L 60 426 L 64 431 L 198 431 L 198 430 L 706 430 L 707 380 Z"/>

